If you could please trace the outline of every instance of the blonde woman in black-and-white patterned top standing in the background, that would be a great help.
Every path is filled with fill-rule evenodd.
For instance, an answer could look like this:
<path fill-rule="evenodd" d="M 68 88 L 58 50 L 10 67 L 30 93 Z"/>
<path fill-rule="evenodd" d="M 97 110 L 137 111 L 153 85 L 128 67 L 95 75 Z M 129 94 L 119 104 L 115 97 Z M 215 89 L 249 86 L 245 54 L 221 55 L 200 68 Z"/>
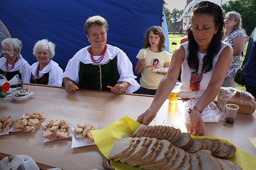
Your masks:
<path fill-rule="evenodd" d="M 222 87 L 236 88 L 234 77 L 236 71 L 242 66 L 242 53 L 244 52 L 247 36 L 245 30 L 242 28 L 242 18 L 239 13 L 234 11 L 228 12 L 224 22 L 225 33 L 223 41 L 232 46 L 234 54 Z"/>

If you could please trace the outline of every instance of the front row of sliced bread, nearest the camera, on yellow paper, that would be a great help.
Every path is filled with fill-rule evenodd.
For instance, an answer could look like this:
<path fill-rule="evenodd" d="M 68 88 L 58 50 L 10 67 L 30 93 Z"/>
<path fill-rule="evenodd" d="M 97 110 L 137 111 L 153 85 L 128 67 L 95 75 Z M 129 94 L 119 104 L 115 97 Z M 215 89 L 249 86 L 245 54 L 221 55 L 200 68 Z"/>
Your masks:
<path fill-rule="evenodd" d="M 125 137 L 116 140 L 109 158 L 142 169 L 242 169 L 228 160 L 216 159 L 207 150 L 185 152 L 167 140 Z"/>

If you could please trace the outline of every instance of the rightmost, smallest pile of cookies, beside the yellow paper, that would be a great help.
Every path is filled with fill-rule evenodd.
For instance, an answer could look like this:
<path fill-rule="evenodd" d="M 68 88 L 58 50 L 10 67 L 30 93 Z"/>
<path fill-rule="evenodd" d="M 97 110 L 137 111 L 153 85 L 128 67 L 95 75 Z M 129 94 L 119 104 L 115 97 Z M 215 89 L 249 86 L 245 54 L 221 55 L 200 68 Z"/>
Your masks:
<path fill-rule="evenodd" d="M 90 130 L 94 130 L 92 123 L 85 123 L 84 126 L 77 124 L 77 128 L 74 129 L 78 135 L 76 135 L 76 139 L 84 139 L 84 142 L 91 143 L 94 141 L 92 137 L 92 133 Z"/>

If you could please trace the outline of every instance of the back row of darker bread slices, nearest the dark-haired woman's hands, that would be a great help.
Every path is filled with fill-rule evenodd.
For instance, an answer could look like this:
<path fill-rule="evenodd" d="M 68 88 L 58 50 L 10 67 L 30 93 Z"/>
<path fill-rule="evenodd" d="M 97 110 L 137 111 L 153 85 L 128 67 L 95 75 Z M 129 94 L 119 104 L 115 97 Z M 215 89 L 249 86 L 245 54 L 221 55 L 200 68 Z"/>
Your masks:
<path fill-rule="evenodd" d="M 155 137 L 165 139 L 189 153 L 196 153 L 201 150 L 210 150 L 216 158 L 231 158 L 236 153 L 236 147 L 221 142 L 219 139 L 194 139 L 189 133 L 181 133 L 180 129 L 169 126 L 140 125 L 132 137 Z"/>

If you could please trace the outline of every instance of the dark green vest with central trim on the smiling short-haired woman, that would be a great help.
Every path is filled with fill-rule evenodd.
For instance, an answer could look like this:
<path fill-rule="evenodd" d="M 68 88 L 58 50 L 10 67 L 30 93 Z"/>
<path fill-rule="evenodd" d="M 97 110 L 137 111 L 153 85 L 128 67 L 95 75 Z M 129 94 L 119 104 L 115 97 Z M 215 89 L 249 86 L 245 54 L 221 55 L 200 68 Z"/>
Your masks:
<path fill-rule="evenodd" d="M 81 89 L 110 91 L 120 78 L 117 71 L 117 57 L 103 64 L 84 64 L 80 62 L 79 83 Z"/>

